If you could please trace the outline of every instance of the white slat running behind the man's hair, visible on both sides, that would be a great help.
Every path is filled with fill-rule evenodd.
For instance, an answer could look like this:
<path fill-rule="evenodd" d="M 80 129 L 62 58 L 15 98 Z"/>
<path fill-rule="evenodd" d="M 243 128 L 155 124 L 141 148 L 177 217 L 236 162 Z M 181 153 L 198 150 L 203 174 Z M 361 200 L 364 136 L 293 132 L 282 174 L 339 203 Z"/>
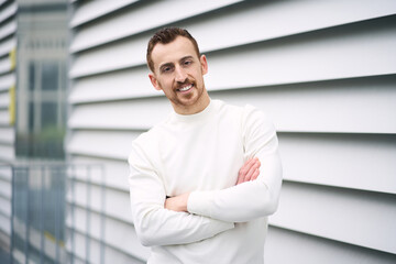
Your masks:
<path fill-rule="evenodd" d="M 350 10 L 349 8 L 356 6 L 361 8 L 353 12 L 353 15 L 348 11 L 333 15 L 336 10 Z M 312 12 L 318 15 L 316 23 L 312 23 L 311 16 L 308 15 Z M 193 21 L 186 26 L 199 41 L 201 52 L 209 52 L 369 20 L 395 12 L 395 2 L 388 0 L 383 4 L 372 1 L 363 3 L 360 1 L 261 2 L 249 7 L 243 12 L 235 9 L 227 15 L 213 15 L 204 21 Z M 285 18 L 288 19 L 285 20 Z M 245 30 L 238 31 L 238 37 L 235 37 L 235 29 L 241 28 Z M 145 64 L 145 50 L 150 37 L 151 33 L 139 35 L 133 40 L 81 53 L 73 64 L 70 76 L 78 77 Z"/>

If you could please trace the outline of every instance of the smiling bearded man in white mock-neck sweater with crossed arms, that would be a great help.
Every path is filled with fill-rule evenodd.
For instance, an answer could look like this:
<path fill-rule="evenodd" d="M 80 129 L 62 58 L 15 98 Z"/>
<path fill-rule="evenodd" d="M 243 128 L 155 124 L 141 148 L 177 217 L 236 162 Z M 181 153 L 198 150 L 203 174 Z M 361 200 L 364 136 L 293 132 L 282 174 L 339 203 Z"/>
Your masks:
<path fill-rule="evenodd" d="M 197 42 L 183 29 L 148 42 L 150 80 L 174 112 L 132 145 L 131 207 L 147 263 L 263 263 L 282 166 L 268 118 L 211 100 Z"/>

